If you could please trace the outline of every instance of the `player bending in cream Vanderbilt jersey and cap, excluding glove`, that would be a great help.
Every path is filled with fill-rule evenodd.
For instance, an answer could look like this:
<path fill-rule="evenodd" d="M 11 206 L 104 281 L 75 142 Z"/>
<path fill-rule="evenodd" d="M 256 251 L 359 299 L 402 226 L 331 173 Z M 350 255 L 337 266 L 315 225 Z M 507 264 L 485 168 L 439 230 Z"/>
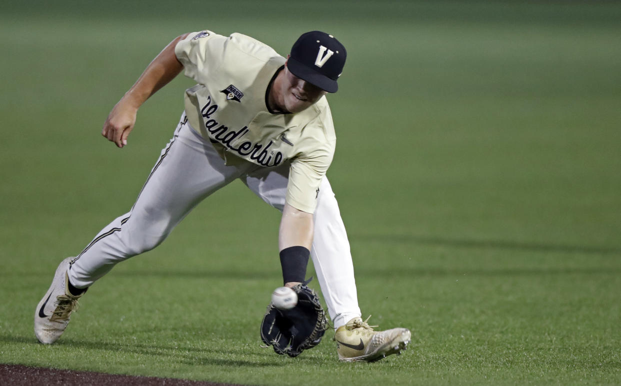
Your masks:
<path fill-rule="evenodd" d="M 194 206 L 240 179 L 282 212 L 286 286 L 304 281 L 312 257 L 339 359 L 374 361 L 405 349 L 409 330 L 374 331 L 361 319 L 347 234 L 325 177 L 336 142 L 325 94 L 337 91 L 346 56 L 319 31 L 303 34 L 287 58 L 251 37 L 209 30 L 167 45 L 114 106 L 102 135 L 123 148 L 148 97 L 181 71 L 197 84 L 132 209 L 58 266 L 35 310 L 39 341 L 60 338 L 78 299 L 115 264 L 158 246 Z"/>

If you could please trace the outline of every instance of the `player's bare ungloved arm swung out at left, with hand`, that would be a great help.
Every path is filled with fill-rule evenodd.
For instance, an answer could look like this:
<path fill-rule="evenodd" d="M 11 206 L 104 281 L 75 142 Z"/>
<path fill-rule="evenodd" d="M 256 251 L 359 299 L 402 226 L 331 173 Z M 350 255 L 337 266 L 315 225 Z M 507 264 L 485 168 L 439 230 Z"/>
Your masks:
<path fill-rule="evenodd" d="M 127 145 L 127 137 L 134 128 L 138 108 L 183 70 L 183 65 L 175 55 L 175 46 L 187 36 L 188 34 L 184 34 L 175 38 L 155 56 L 134 86 L 114 105 L 101 135 L 116 143 L 119 148 Z"/>

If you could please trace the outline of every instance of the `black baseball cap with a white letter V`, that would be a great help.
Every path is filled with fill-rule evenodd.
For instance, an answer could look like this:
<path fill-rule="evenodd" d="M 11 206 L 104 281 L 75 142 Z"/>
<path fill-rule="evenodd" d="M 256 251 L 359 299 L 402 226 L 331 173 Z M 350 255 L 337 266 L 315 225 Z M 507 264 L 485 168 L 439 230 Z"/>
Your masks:
<path fill-rule="evenodd" d="M 287 68 L 327 92 L 337 92 L 337 79 L 343 72 L 347 51 L 332 35 L 311 31 L 302 34 L 291 47 Z"/>

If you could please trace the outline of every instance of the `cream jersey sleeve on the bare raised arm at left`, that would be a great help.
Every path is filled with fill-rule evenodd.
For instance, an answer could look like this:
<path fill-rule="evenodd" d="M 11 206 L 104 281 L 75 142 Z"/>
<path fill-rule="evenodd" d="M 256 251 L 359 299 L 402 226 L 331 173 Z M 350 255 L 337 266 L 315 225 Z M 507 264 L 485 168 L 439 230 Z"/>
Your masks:
<path fill-rule="evenodd" d="M 220 68 L 228 38 L 209 30 L 193 32 L 175 46 L 175 55 L 184 74 L 196 83 L 206 84 L 211 73 Z"/>

